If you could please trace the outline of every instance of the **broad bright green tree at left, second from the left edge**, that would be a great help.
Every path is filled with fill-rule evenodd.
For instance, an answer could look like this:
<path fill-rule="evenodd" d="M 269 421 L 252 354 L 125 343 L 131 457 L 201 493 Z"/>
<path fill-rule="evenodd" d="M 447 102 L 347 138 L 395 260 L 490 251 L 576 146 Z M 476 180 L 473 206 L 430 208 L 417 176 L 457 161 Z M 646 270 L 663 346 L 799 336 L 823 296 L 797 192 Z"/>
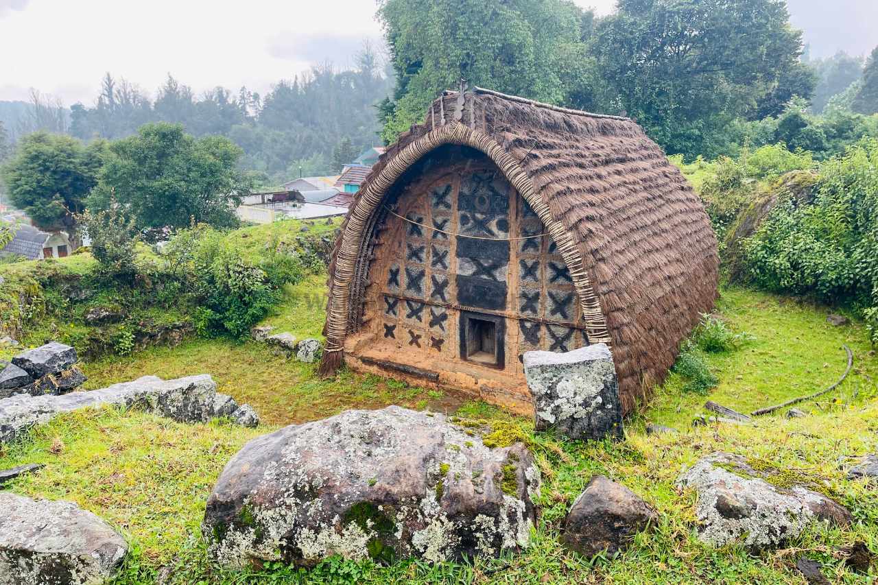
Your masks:
<path fill-rule="evenodd" d="M 191 225 L 237 224 L 234 207 L 248 192 L 237 168 L 241 148 L 221 136 L 195 139 L 180 124 L 141 126 L 138 134 L 112 142 L 88 206 L 97 212 L 112 196 L 138 228 L 158 232 Z"/>

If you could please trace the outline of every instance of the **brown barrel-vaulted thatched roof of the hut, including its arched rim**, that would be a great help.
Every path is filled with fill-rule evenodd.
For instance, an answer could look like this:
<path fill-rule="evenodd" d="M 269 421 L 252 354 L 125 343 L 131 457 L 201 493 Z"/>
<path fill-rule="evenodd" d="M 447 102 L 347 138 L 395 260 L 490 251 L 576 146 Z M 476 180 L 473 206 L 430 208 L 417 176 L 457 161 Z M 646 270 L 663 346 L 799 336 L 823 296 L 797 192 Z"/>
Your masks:
<path fill-rule="evenodd" d="M 613 350 L 630 411 L 716 299 L 716 238 L 702 203 L 636 122 L 488 90 L 436 99 L 356 194 L 330 266 L 321 371 L 341 364 L 344 337 L 359 328 L 363 258 L 385 194 L 445 144 L 492 158 L 543 220 L 571 269 L 590 343 Z"/>

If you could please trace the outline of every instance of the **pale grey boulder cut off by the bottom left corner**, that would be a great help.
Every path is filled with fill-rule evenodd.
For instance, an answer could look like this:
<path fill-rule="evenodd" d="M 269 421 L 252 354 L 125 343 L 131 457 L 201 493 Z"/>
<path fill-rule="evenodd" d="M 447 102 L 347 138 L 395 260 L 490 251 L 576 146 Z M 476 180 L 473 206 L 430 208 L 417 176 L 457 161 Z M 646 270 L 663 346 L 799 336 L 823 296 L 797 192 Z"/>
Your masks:
<path fill-rule="evenodd" d="M 125 538 L 74 502 L 0 492 L 0 583 L 94 585 L 112 577 Z"/>

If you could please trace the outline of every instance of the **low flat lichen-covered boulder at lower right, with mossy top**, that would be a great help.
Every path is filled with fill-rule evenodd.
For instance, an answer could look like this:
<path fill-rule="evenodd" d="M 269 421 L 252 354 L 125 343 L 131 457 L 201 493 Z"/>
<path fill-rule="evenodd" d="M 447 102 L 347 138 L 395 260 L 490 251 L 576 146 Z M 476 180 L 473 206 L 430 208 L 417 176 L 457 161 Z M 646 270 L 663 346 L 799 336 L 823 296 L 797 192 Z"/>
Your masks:
<path fill-rule="evenodd" d="M 795 538 L 816 521 L 851 523 L 851 514 L 827 496 L 802 486 L 778 488 L 738 455 L 716 452 L 680 476 L 680 488 L 698 494 L 699 538 L 721 546 L 738 538 L 754 548 Z"/>

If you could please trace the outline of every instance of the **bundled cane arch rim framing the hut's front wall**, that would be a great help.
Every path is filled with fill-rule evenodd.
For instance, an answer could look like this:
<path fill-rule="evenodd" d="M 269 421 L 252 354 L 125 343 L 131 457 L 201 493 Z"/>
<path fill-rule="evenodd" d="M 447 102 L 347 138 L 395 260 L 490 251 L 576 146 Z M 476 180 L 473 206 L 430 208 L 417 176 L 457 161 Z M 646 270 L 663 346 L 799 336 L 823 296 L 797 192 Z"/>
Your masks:
<path fill-rule="evenodd" d="M 350 210 L 346 227 L 342 230 L 341 242 L 336 248 L 334 270 L 331 275 L 333 288 L 325 329 L 327 353 L 342 352 L 344 338 L 351 325 L 349 319 L 356 314 L 356 311 L 352 312 L 349 307 L 351 293 L 354 292 L 351 290 L 351 284 L 355 280 L 357 264 L 363 262 L 363 252 L 371 235 L 369 229 L 371 220 L 382 205 L 387 190 L 422 156 L 447 144 L 468 146 L 485 153 L 504 174 L 509 184 L 529 203 L 543 221 L 546 231 L 558 244 L 565 264 L 570 269 L 573 285 L 576 287 L 582 307 L 588 339 L 591 343 L 602 342 L 610 345 L 607 321 L 601 310 L 601 304 L 594 294 L 594 287 L 587 271 L 582 265 L 576 244 L 562 223 L 552 217 L 549 206 L 536 193 L 533 181 L 522 169 L 522 165 L 492 137 L 460 122 L 451 122 L 424 134 L 399 151 L 392 161 L 378 172 L 378 175 L 371 177 L 369 184 Z M 362 284 L 362 279 L 356 283 L 359 286 Z"/>

